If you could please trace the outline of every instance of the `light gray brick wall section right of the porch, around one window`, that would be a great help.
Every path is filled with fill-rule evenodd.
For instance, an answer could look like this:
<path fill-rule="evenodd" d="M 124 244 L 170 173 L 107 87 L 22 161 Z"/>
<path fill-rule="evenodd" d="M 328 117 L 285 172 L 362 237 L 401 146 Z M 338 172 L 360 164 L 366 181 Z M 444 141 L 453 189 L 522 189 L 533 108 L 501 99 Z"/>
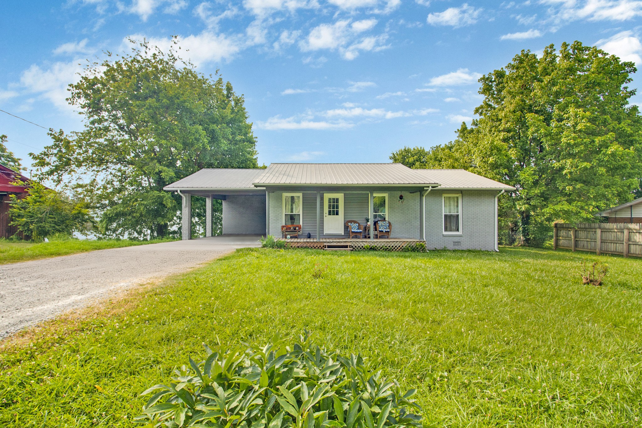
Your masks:
<path fill-rule="evenodd" d="M 443 193 L 462 194 L 460 235 L 444 235 Z M 496 191 L 438 191 L 426 195 L 426 246 L 429 249 L 495 250 Z M 458 243 L 458 244 L 457 244 Z"/>

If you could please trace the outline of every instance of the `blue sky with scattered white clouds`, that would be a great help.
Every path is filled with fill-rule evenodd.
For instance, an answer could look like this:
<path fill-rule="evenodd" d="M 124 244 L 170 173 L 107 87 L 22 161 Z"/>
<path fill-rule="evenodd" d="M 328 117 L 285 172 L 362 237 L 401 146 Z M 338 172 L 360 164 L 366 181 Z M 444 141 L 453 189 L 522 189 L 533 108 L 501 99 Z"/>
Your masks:
<path fill-rule="evenodd" d="M 245 94 L 260 163 L 388 162 L 403 146 L 451 141 L 481 101 L 477 79 L 521 49 L 580 40 L 639 65 L 641 24 L 634 0 L 10 2 L 0 108 L 79 130 L 65 88 L 80 62 L 122 52 L 126 37 L 166 47 L 178 35 L 199 71 L 220 69 Z M 49 143 L 2 112 L 0 133 L 26 166 Z"/>

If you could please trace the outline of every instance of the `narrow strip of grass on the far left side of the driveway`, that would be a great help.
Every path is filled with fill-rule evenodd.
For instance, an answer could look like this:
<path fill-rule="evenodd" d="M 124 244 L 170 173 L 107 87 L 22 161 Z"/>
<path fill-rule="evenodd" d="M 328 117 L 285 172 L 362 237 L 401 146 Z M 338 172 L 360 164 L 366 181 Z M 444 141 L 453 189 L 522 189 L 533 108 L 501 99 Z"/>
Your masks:
<path fill-rule="evenodd" d="M 154 241 L 129 241 L 127 239 L 65 239 L 49 241 L 48 243 L 30 243 L 0 239 L 0 264 L 26 262 L 29 260 L 46 259 L 58 255 L 84 253 L 107 248 L 122 246 L 155 244 L 173 239 L 157 239 Z"/>

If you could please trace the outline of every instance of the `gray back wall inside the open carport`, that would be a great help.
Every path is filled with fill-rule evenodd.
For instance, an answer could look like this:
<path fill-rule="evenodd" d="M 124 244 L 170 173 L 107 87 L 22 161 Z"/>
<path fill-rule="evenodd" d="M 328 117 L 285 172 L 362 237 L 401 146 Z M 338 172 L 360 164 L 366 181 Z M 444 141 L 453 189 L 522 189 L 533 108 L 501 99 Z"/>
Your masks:
<path fill-rule="evenodd" d="M 229 195 L 223 201 L 223 235 L 265 235 L 265 196 Z"/>

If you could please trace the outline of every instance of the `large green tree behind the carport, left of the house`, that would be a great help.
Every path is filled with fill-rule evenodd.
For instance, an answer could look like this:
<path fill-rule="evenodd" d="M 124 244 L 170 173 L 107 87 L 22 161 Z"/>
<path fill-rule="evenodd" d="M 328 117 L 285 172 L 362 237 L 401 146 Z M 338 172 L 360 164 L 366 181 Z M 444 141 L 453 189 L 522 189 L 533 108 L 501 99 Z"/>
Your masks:
<path fill-rule="evenodd" d="M 202 168 L 257 167 L 243 96 L 174 49 L 142 42 L 128 55 L 107 53 L 69 91 L 84 129 L 52 130 L 53 144 L 32 156 L 39 178 L 73 184 L 92 201 L 105 235 L 176 234 L 180 196 L 165 185 Z M 204 204 L 195 205 L 200 216 Z"/>

